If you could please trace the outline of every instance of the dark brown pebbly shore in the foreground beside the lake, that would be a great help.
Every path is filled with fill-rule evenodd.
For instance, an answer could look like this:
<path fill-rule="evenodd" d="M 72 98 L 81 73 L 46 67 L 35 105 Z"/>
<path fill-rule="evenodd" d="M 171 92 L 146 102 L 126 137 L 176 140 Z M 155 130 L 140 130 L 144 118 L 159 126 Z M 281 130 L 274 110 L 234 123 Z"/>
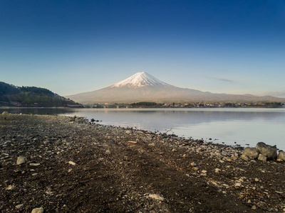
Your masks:
<path fill-rule="evenodd" d="M 284 168 L 166 133 L 0 115 L 0 212 L 285 212 Z"/>

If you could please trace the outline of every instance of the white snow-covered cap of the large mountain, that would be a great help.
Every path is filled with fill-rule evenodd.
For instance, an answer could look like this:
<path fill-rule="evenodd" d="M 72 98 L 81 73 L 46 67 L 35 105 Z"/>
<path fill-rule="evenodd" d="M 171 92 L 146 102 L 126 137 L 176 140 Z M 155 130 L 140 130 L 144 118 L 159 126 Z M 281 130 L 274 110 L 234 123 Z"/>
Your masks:
<path fill-rule="evenodd" d="M 111 87 L 145 87 L 145 86 L 170 86 L 165 82 L 158 80 L 147 72 L 138 72 L 127 79 L 113 84 Z"/>

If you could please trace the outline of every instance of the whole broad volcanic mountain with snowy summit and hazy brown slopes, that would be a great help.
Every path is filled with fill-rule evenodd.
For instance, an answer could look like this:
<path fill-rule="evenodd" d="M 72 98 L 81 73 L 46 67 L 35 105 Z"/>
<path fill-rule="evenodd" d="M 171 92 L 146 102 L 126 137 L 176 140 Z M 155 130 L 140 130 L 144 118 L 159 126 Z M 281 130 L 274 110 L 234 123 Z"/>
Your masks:
<path fill-rule="evenodd" d="M 149 75 L 138 72 L 127 79 L 93 92 L 68 96 L 82 104 L 133 102 L 285 102 L 277 97 L 257 97 L 251 94 L 216 94 L 195 89 L 175 87 Z"/>

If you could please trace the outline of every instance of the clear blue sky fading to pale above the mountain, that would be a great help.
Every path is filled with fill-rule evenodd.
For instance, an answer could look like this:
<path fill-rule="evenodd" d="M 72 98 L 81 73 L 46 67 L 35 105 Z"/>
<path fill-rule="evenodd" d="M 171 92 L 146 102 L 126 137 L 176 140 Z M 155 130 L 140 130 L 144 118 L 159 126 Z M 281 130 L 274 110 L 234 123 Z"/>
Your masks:
<path fill-rule="evenodd" d="M 0 81 L 61 95 L 147 72 L 285 97 L 284 0 L 0 0 Z"/>

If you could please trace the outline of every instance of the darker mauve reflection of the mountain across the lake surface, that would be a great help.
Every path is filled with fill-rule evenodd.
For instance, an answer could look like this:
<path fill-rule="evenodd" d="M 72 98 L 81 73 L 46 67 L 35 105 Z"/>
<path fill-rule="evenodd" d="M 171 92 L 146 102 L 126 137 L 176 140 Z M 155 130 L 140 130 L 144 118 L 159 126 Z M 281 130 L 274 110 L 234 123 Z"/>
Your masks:
<path fill-rule="evenodd" d="M 5 109 L 1 109 L 5 111 Z M 54 109 L 54 108 L 19 108 L 6 110 L 11 113 L 23 114 L 67 114 L 84 116 L 88 119 L 103 120 L 108 124 L 124 123 L 141 124 L 145 128 L 168 128 L 177 125 L 195 125 L 219 121 L 264 121 L 282 122 L 285 120 L 284 109 L 131 109 L 131 110 L 109 110 L 109 109 Z M 177 124 L 177 125 L 176 125 Z M 161 127 L 161 128 L 160 128 Z"/>

